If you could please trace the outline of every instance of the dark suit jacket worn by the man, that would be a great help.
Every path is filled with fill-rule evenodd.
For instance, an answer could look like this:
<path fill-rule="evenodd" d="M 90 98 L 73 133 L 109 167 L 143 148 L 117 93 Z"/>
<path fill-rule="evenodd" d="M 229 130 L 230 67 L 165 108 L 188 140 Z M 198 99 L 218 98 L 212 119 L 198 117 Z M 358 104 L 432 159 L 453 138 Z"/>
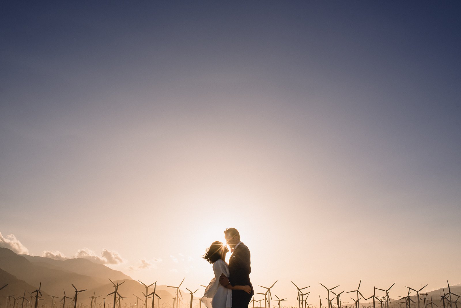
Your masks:
<path fill-rule="evenodd" d="M 250 250 L 240 243 L 229 259 L 229 282 L 232 285 L 250 285 Z M 248 293 L 247 293 L 248 295 Z M 253 286 L 251 296 L 254 295 Z"/>

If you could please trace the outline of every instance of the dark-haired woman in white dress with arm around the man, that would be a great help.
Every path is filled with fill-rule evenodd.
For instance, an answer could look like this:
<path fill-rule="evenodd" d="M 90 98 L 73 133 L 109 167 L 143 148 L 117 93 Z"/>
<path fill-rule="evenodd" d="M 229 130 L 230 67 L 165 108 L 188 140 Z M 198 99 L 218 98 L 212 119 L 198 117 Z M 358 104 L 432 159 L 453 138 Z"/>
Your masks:
<path fill-rule="evenodd" d="M 251 294 L 249 285 L 234 285 L 228 284 L 226 287 L 219 284 L 219 277 L 222 274 L 229 278 L 229 266 L 224 261 L 229 249 L 223 243 L 216 241 L 205 250 L 203 259 L 213 264 L 214 278 L 211 279 L 205 294 L 201 301 L 207 308 L 231 308 L 232 307 L 232 290 L 244 290 Z"/>

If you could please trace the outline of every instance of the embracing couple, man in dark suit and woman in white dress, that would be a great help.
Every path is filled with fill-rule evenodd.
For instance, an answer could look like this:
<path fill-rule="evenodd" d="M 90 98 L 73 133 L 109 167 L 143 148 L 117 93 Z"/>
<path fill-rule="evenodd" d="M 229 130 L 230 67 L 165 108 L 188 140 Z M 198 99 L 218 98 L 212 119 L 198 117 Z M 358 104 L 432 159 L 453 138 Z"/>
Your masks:
<path fill-rule="evenodd" d="M 232 252 L 229 265 L 225 262 L 229 249 L 219 241 L 213 242 L 203 259 L 213 264 L 214 278 L 201 301 L 207 308 L 248 308 L 254 295 L 250 282 L 250 251 L 240 241 L 237 229 L 226 229 L 224 238 Z"/>

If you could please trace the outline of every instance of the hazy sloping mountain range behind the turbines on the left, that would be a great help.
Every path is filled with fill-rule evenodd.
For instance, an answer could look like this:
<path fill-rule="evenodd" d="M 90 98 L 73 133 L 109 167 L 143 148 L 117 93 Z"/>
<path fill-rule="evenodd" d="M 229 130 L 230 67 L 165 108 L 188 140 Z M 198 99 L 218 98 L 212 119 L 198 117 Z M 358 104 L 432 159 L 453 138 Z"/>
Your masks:
<path fill-rule="evenodd" d="M 112 295 L 108 294 L 114 291 L 115 284 L 119 283 L 118 293 L 125 297 L 125 303 L 136 304 L 136 296 L 140 297 L 140 305 L 145 296 L 142 293 L 146 292 L 146 287 L 138 281 L 133 280 L 130 276 L 123 272 L 113 270 L 103 264 L 97 264 L 87 259 L 68 259 L 54 260 L 40 256 L 17 255 L 12 250 L 0 248 L 0 288 L 8 284 L 3 290 L 0 290 L 0 297 L 23 296 L 26 291 L 26 298 L 30 299 L 30 293 L 37 290 L 41 285 L 42 298 L 47 305 L 51 306 L 51 296 L 57 296 L 59 299 L 64 296 L 73 297 L 75 289 L 86 289 L 79 293 L 77 304 L 87 305 L 90 303 L 90 296 L 98 296 L 97 304 L 103 302 L 103 297 L 106 297 L 106 304 L 112 303 Z M 146 282 L 151 284 L 152 282 Z M 64 290 L 64 291 L 63 291 Z M 153 291 L 153 287 L 149 287 L 148 292 Z M 183 293 L 183 301 L 189 302 L 188 293 Z M 172 298 L 175 296 L 175 290 L 166 285 L 157 285 L 156 293 L 162 297 L 160 303 L 172 303 Z M 184 296 L 187 294 L 187 296 Z M 34 295 L 35 296 L 35 295 Z M 59 301 L 58 299 L 54 300 Z M 152 300 L 148 300 L 149 306 Z M 157 303 L 157 300 L 155 301 Z M 71 300 L 66 302 L 71 303 Z M 0 306 L 1 307 L 1 306 Z M 106 306 L 108 307 L 108 306 Z"/>

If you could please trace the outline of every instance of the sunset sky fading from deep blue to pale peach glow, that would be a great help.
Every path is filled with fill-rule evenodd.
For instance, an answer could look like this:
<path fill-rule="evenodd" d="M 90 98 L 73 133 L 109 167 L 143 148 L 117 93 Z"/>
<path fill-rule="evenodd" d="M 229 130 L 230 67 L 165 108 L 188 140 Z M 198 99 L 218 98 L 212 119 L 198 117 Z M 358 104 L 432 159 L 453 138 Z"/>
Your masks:
<path fill-rule="evenodd" d="M 236 227 L 288 305 L 461 283 L 460 12 L 3 1 L 0 246 L 192 290 Z"/>

